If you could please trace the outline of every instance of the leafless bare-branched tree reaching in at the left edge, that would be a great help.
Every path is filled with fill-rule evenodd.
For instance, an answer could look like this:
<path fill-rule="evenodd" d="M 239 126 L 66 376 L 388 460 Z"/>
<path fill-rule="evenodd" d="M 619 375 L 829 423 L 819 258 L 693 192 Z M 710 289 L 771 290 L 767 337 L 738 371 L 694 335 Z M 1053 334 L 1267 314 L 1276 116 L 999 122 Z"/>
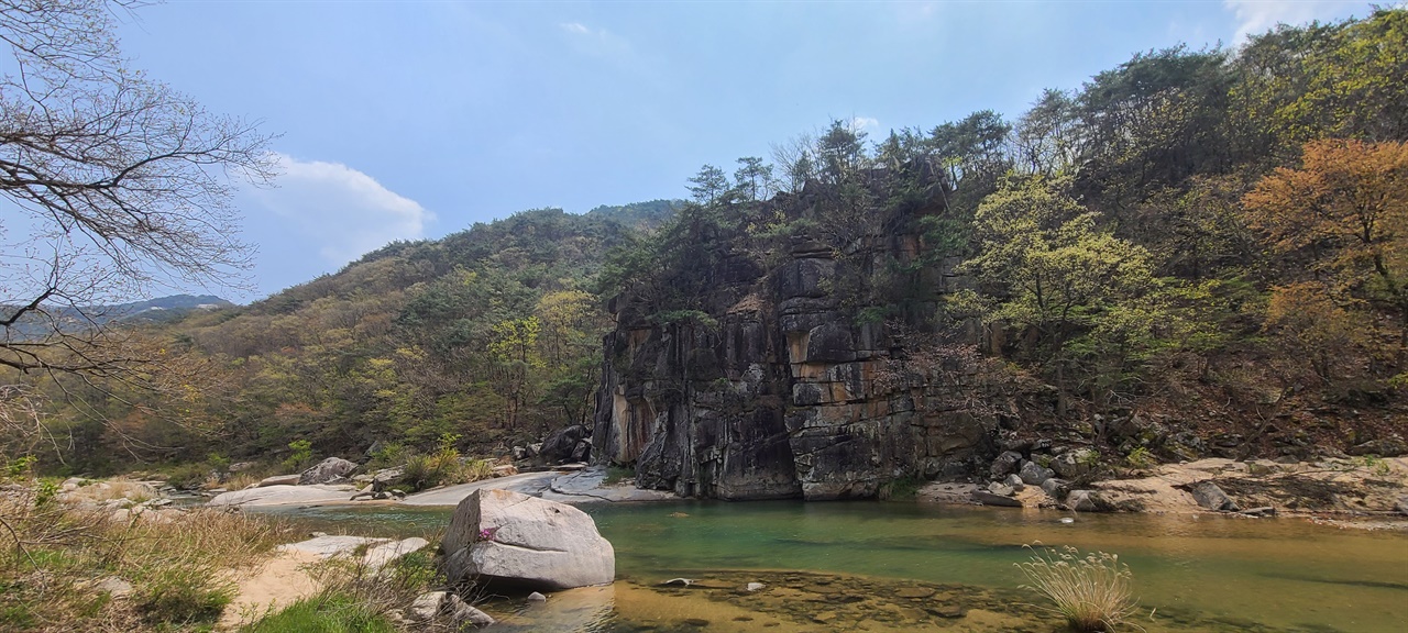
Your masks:
<path fill-rule="evenodd" d="M 131 374 L 148 347 L 93 305 L 245 284 L 232 183 L 270 181 L 270 136 L 130 68 L 139 4 L 0 0 L 0 383 Z"/>

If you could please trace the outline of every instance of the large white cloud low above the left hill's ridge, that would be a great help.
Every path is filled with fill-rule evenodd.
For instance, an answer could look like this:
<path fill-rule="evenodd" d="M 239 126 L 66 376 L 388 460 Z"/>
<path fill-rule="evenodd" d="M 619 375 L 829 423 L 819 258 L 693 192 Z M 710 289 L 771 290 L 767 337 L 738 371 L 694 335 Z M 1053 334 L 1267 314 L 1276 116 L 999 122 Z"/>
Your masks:
<path fill-rule="evenodd" d="M 277 188 L 255 198 L 289 221 L 304 243 L 341 266 L 396 239 L 420 239 L 435 214 L 376 179 L 342 163 L 298 160 L 276 153 L 283 176 Z"/>

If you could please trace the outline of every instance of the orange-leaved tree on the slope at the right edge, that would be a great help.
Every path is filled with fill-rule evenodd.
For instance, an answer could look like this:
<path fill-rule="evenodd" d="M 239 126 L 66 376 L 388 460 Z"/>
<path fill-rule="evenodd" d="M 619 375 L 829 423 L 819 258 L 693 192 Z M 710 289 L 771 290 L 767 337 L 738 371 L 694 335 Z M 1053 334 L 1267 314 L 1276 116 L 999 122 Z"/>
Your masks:
<path fill-rule="evenodd" d="M 1300 169 L 1263 177 L 1242 204 L 1278 253 L 1302 253 L 1336 293 L 1397 312 L 1408 347 L 1408 143 L 1321 139 Z"/>

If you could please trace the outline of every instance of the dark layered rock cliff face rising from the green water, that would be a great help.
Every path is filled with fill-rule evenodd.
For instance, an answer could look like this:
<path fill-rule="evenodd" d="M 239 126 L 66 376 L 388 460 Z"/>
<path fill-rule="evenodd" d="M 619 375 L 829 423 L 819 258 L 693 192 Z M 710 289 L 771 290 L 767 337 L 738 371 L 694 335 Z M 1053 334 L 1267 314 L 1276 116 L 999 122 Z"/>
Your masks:
<path fill-rule="evenodd" d="M 805 194 L 780 198 L 793 217 L 812 207 Z M 907 219 L 872 218 L 842 249 L 794 238 L 770 257 L 731 250 L 725 236 L 700 271 L 711 280 L 708 319 L 660 324 L 629 295 L 614 301 L 597 461 L 634 464 L 636 485 L 681 495 L 841 499 L 990 460 L 995 418 L 900 370 L 894 319 L 866 318 L 856 304 L 888 274 L 907 288 L 900 319 L 922 322 L 960 283 L 953 262 L 917 264 L 924 245 Z M 910 273 L 895 280 L 895 269 Z"/>

